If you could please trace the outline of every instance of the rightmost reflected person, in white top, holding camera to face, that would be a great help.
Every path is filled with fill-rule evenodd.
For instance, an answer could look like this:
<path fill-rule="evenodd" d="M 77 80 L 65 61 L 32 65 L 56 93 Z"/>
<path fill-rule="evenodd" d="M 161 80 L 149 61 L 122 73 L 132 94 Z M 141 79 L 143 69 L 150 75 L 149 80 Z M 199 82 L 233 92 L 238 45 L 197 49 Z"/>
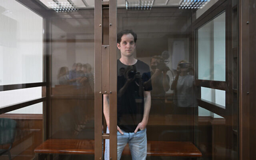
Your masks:
<path fill-rule="evenodd" d="M 193 107 L 195 104 L 195 96 L 193 94 L 194 76 L 190 71 L 191 64 L 186 60 L 182 60 L 177 66 L 177 76 L 171 86 L 171 90 L 175 90 L 176 100 L 174 101 L 178 107 Z"/>

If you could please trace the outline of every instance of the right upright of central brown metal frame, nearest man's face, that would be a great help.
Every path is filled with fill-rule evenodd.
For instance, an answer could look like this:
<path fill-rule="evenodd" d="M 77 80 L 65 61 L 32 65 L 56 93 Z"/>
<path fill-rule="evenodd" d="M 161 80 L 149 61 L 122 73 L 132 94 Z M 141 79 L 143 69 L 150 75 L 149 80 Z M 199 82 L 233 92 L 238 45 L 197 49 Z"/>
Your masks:
<path fill-rule="evenodd" d="M 116 37 L 117 37 L 117 22 L 116 22 L 116 0 L 109 2 L 109 45 L 110 45 L 110 158 L 117 159 L 117 54 L 116 54 Z"/>

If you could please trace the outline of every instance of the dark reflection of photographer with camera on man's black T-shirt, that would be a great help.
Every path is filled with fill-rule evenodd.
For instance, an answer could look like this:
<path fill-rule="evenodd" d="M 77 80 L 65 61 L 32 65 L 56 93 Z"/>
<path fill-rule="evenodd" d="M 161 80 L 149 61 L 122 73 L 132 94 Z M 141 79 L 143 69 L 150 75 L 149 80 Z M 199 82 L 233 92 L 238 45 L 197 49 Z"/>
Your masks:
<path fill-rule="evenodd" d="M 136 67 L 134 65 L 128 66 L 124 71 L 123 75 L 118 76 L 118 83 L 125 82 L 124 86 L 118 91 L 118 96 L 124 95 L 127 91 L 130 84 L 134 84 L 139 87 L 139 96 L 142 96 L 143 93 L 143 85 L 140 72 L 137 72 Z"/>

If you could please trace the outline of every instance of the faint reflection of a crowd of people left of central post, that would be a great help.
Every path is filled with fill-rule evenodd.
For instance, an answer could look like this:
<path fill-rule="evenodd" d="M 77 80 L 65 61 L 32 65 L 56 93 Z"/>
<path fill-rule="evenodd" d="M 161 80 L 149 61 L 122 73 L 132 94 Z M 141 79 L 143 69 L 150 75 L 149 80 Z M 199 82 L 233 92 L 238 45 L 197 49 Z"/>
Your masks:
<path fill-rule="evenodd" d="M 70 71 L 68 67 L 61 67 L 58 72 L 58 84 L 77 86 L 77 89 L 86 89 L 86 93 L 93 93 L 94 75 L 92 74 L 92 66 L 88 63 L 74 63 Z"/>

